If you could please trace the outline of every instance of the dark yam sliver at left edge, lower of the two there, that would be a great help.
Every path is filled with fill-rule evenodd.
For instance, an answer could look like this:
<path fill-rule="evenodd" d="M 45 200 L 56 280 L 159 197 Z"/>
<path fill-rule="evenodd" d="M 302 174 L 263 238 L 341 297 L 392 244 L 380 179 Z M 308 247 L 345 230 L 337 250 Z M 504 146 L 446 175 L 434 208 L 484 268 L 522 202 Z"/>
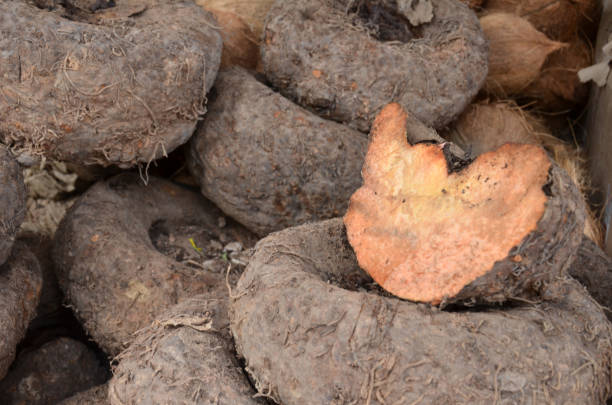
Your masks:
<path fill-rule="evenodd" d="M 15 358 L 42 290 L 42 272 L 36 257 L 21 242 L 0 265 L 0 379 Z"/>

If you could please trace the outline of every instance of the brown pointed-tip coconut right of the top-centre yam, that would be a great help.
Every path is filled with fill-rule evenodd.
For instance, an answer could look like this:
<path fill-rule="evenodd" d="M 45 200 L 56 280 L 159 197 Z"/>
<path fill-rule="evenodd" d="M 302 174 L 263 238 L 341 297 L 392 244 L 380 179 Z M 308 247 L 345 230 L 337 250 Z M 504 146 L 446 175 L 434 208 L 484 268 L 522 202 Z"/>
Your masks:
<path fill-rule="evenodd" d="M 485 90 L 498 97 L 520 94 L 538 78 L 546 58 L 564 47 L 512 14 L 490 14 L 480 24 L 490 44 Z"/>

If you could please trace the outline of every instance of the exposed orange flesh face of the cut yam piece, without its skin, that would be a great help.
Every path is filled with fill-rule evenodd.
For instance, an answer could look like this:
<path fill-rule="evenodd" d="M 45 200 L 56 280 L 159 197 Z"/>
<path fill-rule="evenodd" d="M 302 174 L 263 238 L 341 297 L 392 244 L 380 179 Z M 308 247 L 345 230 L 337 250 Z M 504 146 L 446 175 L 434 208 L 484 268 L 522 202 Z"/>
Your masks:
<path fill-rule="evenodd" d="M 551 162 L 508 144 L 450 173 L 439 145 L 406 141 L 407 113 L 372 127 L 363 186 L 344 217 L 360 266 L 401 298 L 439 304 L 508 257 L 538 226 Z"/>

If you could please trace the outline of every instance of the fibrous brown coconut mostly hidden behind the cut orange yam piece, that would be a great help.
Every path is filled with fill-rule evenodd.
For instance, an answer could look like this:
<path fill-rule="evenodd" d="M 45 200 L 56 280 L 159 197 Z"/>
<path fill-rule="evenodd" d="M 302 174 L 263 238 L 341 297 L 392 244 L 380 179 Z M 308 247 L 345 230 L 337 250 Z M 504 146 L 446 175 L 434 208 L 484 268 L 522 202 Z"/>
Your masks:
<path fill-rule="evenodd" d="M 588 204 L 587 196 L 591 186 L 584 151 L 553 136 L 539 118 L 521 109 L 513 101 L 485 101 L 470 105 L 442 135 L 474 156 L 509 142 L 542 145 L 580 189 L 587 201 L 584 234 L 602 246 L 601 226 Z"/>

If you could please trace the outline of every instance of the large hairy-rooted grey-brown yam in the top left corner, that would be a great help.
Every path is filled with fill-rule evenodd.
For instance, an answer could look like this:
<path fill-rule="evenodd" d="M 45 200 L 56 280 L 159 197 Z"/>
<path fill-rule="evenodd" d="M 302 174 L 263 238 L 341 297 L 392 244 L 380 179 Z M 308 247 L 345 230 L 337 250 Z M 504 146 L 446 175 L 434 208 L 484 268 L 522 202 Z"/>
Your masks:
<path fill-rule="evenodd" d="M 185 143 L 221 58 L 210 13 L 179 0 L 70 10 L 0 3 L 0 141 L 123 167 Z"/>

